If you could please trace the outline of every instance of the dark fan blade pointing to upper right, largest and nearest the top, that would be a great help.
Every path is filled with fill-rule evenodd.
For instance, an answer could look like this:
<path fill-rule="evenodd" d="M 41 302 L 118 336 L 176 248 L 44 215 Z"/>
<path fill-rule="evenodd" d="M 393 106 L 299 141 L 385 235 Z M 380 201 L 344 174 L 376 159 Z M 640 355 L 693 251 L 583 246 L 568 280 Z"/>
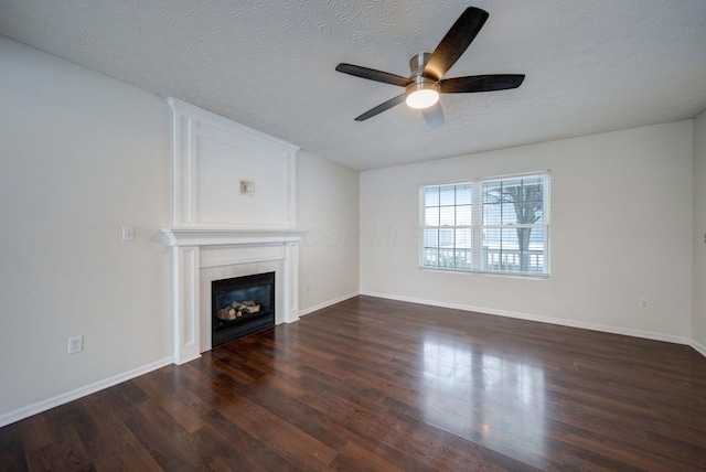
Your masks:
<path fill-rule="evenodd" d="M 475 39 L 488 17 L 485 10 L 475 7 L 467 8 L 431 54 L 424 68 L 424 75 L 437 81 L 443 77 L 443 74 L 456 64 Z"/>

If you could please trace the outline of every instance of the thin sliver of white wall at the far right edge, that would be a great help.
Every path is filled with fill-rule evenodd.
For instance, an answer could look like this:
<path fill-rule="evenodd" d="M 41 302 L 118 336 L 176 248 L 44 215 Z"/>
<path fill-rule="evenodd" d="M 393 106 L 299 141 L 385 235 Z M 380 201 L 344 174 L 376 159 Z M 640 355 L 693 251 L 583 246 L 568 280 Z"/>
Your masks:
<path fill-rule="evenodd" d="M 706 110 L 694 119 L 694 285 L 692 337 L 706 355 Z"/>

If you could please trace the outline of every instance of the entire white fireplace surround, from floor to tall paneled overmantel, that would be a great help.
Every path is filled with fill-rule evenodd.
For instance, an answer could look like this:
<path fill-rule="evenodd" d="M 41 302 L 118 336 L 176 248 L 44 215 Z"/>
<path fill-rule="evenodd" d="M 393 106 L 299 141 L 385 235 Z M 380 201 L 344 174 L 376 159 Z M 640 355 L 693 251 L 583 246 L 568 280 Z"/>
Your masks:
<path fill-rule="evenodd" d="M 275 272 L 275 323 L 299 319 L 299 147 L 169 98 L 173 358 L 212 347 L 211 283 Z"/>

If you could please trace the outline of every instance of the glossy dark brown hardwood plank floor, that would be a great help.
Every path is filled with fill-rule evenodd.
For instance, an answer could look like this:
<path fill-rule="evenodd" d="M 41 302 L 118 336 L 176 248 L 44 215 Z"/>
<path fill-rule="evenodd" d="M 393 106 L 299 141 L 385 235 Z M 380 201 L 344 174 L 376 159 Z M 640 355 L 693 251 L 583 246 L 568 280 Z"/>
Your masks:
<path fill-rule="evenodd" d="M 706 470 L 688 346 L 356 297 L 0 429 L 23 470 Z"/>

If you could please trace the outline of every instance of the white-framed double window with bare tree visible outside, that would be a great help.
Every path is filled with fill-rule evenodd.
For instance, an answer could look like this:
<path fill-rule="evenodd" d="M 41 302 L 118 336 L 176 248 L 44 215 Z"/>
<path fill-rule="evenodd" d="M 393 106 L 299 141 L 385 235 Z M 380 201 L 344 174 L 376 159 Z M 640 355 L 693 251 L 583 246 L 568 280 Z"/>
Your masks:
<path fill-rule="evenodd" d="M 549 273 L 549 172 L 421 187 L 421 267 Z"/>

